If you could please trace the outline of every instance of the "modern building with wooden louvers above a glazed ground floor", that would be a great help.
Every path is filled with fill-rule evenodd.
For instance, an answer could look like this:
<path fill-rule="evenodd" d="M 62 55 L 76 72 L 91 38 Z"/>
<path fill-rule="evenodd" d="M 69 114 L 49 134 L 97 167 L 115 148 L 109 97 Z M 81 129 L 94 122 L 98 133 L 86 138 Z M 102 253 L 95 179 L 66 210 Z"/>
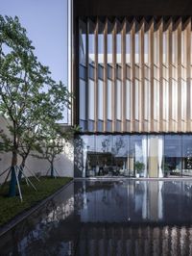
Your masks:
<path fill-rule="evenodd" d="M 191 2 L 71 10 L 74 176 L 192 176 Z"/>

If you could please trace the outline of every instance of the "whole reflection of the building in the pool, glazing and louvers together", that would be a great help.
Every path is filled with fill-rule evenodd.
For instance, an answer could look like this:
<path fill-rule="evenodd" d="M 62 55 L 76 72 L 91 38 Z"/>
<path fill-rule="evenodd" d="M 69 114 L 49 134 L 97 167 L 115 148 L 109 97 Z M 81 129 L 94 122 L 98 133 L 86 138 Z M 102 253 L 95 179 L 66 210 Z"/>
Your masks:
<path fill-rule="evenodd" d="M 79 255 L 191 255 L 189 182 L 85 184 Z M 186 208 L 185 215 L 180 209 Z"/>

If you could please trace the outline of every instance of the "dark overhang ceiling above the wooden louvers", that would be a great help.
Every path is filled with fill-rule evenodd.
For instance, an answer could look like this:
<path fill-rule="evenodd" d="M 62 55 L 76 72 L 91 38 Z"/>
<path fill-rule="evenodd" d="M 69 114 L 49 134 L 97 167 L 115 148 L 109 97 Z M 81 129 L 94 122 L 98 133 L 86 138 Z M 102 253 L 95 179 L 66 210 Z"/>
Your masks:
<path fill-rule="evenodd" d="M 74 0 L 76 16 L 188 16 L 191 0 Z"/>

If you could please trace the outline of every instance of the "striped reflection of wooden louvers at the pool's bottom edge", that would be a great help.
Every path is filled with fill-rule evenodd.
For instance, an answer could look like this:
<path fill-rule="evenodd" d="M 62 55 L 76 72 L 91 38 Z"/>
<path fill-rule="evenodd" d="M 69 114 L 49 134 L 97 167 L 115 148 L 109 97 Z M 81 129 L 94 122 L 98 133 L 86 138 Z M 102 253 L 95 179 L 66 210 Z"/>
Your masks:
<path fill-rule="evenodd" d="M 185 227 L 84 224 L 78 255 L 191 255 Z"/>

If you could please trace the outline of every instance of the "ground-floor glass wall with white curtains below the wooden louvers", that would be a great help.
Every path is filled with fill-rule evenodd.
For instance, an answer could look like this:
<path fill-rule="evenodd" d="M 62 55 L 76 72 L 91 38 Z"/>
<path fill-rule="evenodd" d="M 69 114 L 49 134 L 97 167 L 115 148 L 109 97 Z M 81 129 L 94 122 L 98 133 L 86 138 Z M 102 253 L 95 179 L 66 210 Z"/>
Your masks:
<path fill-rule="evenodd" d="M 78 136 L 74 169 L 75 177 L 192 176 L 192 136 Z"/>

